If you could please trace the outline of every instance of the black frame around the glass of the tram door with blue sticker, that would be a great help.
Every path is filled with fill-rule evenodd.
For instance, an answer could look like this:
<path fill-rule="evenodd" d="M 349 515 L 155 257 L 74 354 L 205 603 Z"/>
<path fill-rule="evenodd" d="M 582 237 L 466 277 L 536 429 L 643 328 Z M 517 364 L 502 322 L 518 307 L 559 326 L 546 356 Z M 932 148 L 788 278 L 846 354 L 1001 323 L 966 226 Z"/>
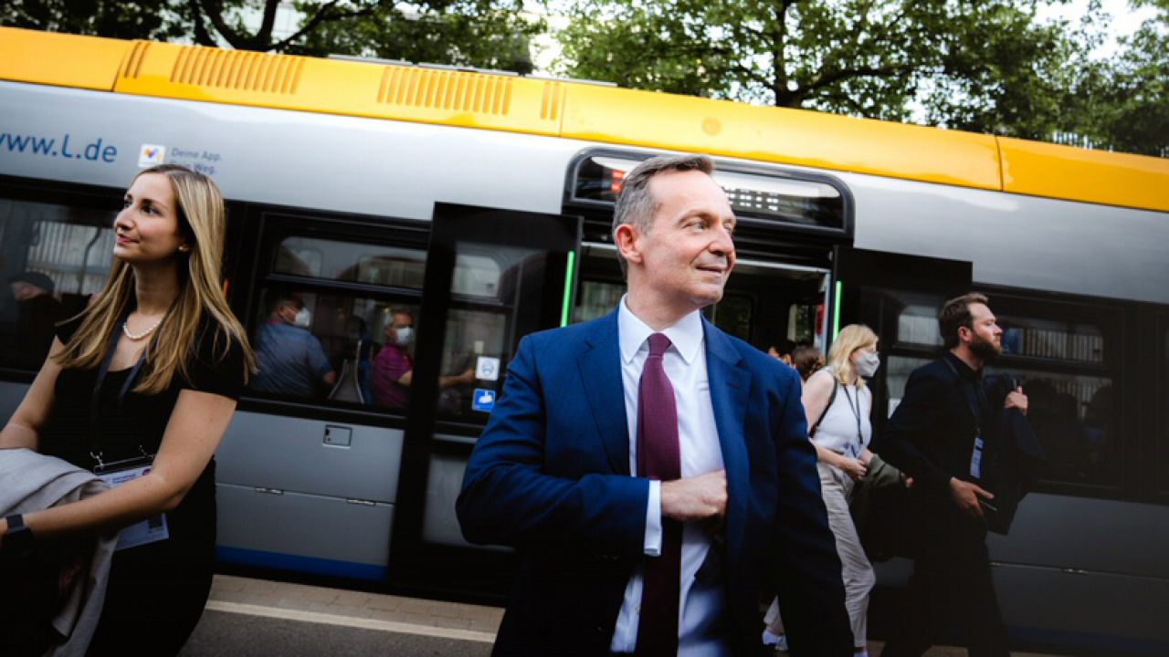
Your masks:
<path fill-rule="evenodd" d="M 443 495 L 457 493 L 436 491 L 430 486 L 436 459 L 447 459 L 448 464 L 451 459 L 465 463 L 489 417 L 486 412 L 471 421 L 440 417 L 438 378 L 443 374 L 440 369 L 444 365 L 447 332 L 452 321 L 449 311 L 451 307 L 489 307 L 494 304 L 506 314 L 504 358 L 497 366 L 498 379 L 484 380 L 476 366 L 475 386 L 490 388 L 498 397 L 503 392 L 507 361 L 514 357 L 519 340 L 527 333 L 554 328 L 567 321 L 565 312 L 572 307 L 576 293 L 581 224 L 582 219 L 570 214 L 435 203 L 417 321 L 410 406 L 400 461 L 397 507 L 389 545 L 389 579 L 393 583 L 482 599 L 494 599 L 506 592 L 511 574 L 518 567 L 511 549 L 456 545 L 461 537 L 454 542 L 436 542 L 427 538 L 428 523 L 438 518 L 450 530 L 455 513 L 452 505 L 427 512 L 428 504 L 443 499 Z M 466 295 L 454 291 L 458 285 L 456 263 L 463 253 L 461 249 L 468 244 L 539 253 L 544 261 L 544 275 L 539 277 L 535 289 L 531 276 L 525 279 L 523 289 L 517 284 L 513 302 L 502 298 L 503 291 L 500 298 L 494 300 L 469 300 Z M 434 533 L 433 528 L 430 533 Z"/>

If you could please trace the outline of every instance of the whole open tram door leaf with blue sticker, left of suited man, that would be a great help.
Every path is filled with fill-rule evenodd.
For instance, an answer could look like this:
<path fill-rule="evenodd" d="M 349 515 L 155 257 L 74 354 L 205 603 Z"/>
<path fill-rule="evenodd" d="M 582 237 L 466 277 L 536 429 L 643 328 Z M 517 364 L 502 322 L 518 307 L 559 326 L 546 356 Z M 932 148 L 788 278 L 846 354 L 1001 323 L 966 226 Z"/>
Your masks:
<path fill-rule="evenodd" d="M 465 542 L 455 500 L 520 338 L 567 324 L 581 219 L 437 203 L 427 254 L 389 576 L 498 593 L 502 548 Z"/>

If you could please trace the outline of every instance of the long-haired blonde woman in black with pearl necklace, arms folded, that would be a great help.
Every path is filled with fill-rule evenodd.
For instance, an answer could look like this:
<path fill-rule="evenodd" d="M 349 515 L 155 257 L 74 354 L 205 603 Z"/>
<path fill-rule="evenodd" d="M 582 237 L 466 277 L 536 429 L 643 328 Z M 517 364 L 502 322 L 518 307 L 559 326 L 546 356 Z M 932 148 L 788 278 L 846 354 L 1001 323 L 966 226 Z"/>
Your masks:
<path fill-rule="evenodd" d="M 212 458 L 254 358 L 221 288 L 224 208 L 187 168 L 139 173 L 113 223 L 115 264 L 0 433 L 98 473 L 106 492 L 0 520 L 0 547 L 123 531 L 90 655 L 174 655 L 202 614 L 215 548 Z M 150 539 L 124 547 L 131 530 Z"/>

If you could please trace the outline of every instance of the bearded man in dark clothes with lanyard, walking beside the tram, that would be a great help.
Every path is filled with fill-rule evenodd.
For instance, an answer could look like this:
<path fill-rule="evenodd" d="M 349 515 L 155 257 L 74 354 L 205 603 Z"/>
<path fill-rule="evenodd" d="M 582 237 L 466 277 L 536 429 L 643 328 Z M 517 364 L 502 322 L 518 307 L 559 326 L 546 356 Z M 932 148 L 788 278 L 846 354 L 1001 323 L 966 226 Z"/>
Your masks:
<path fill-rule="evenodd" d="M 946 351 L 914 369 L 905 396 L 873 450 L 913 477 L 920 503 L 919 546 L 908 604 L 881 657 L 918 657 L 938 639 L 959 641 L 970 657 L 1009 657 L 990 579 L 983 507 L 984 452 L 994 449 L 994 408 L 982 368 L 1002 353 L 1003 330 L 980 293 L 946 302 L 938 323 Z M 1023 388 L 1004 408 L 1026 413 Z M 953 636 L 950 632 L 957 632 Z"/>

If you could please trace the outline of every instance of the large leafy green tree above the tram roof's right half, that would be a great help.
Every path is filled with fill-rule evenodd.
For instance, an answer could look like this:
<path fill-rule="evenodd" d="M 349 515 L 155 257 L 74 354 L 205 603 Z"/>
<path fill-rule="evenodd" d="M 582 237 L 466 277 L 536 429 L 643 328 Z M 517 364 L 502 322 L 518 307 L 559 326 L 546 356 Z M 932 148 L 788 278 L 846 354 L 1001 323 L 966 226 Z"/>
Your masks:
<path fill-rule="evenodd" d="M 1119 68 L 1095 62 L 1090 55 L 1106 20 L 1099 2 L 1079 25 L 1036 20 L 1040 2 L 1061 1 L 584 0 L 560 33 L 560 65 L 637 89 L 1132 144 L 1113 139 L 1120 123 L 1148 126 L 1144 134 L 1169 106 L 1158 68 L 1164 32 L 1157 41 L 1157 30 L 1142 29 Z M 1150 79 L 1158 81 L 1151 87 L 1161 89 L 1160 105 L 1148 102 Z M 1130 108 L 1129 118 L 1105 127 L 1105 97 L 1113 113 Z"/>

